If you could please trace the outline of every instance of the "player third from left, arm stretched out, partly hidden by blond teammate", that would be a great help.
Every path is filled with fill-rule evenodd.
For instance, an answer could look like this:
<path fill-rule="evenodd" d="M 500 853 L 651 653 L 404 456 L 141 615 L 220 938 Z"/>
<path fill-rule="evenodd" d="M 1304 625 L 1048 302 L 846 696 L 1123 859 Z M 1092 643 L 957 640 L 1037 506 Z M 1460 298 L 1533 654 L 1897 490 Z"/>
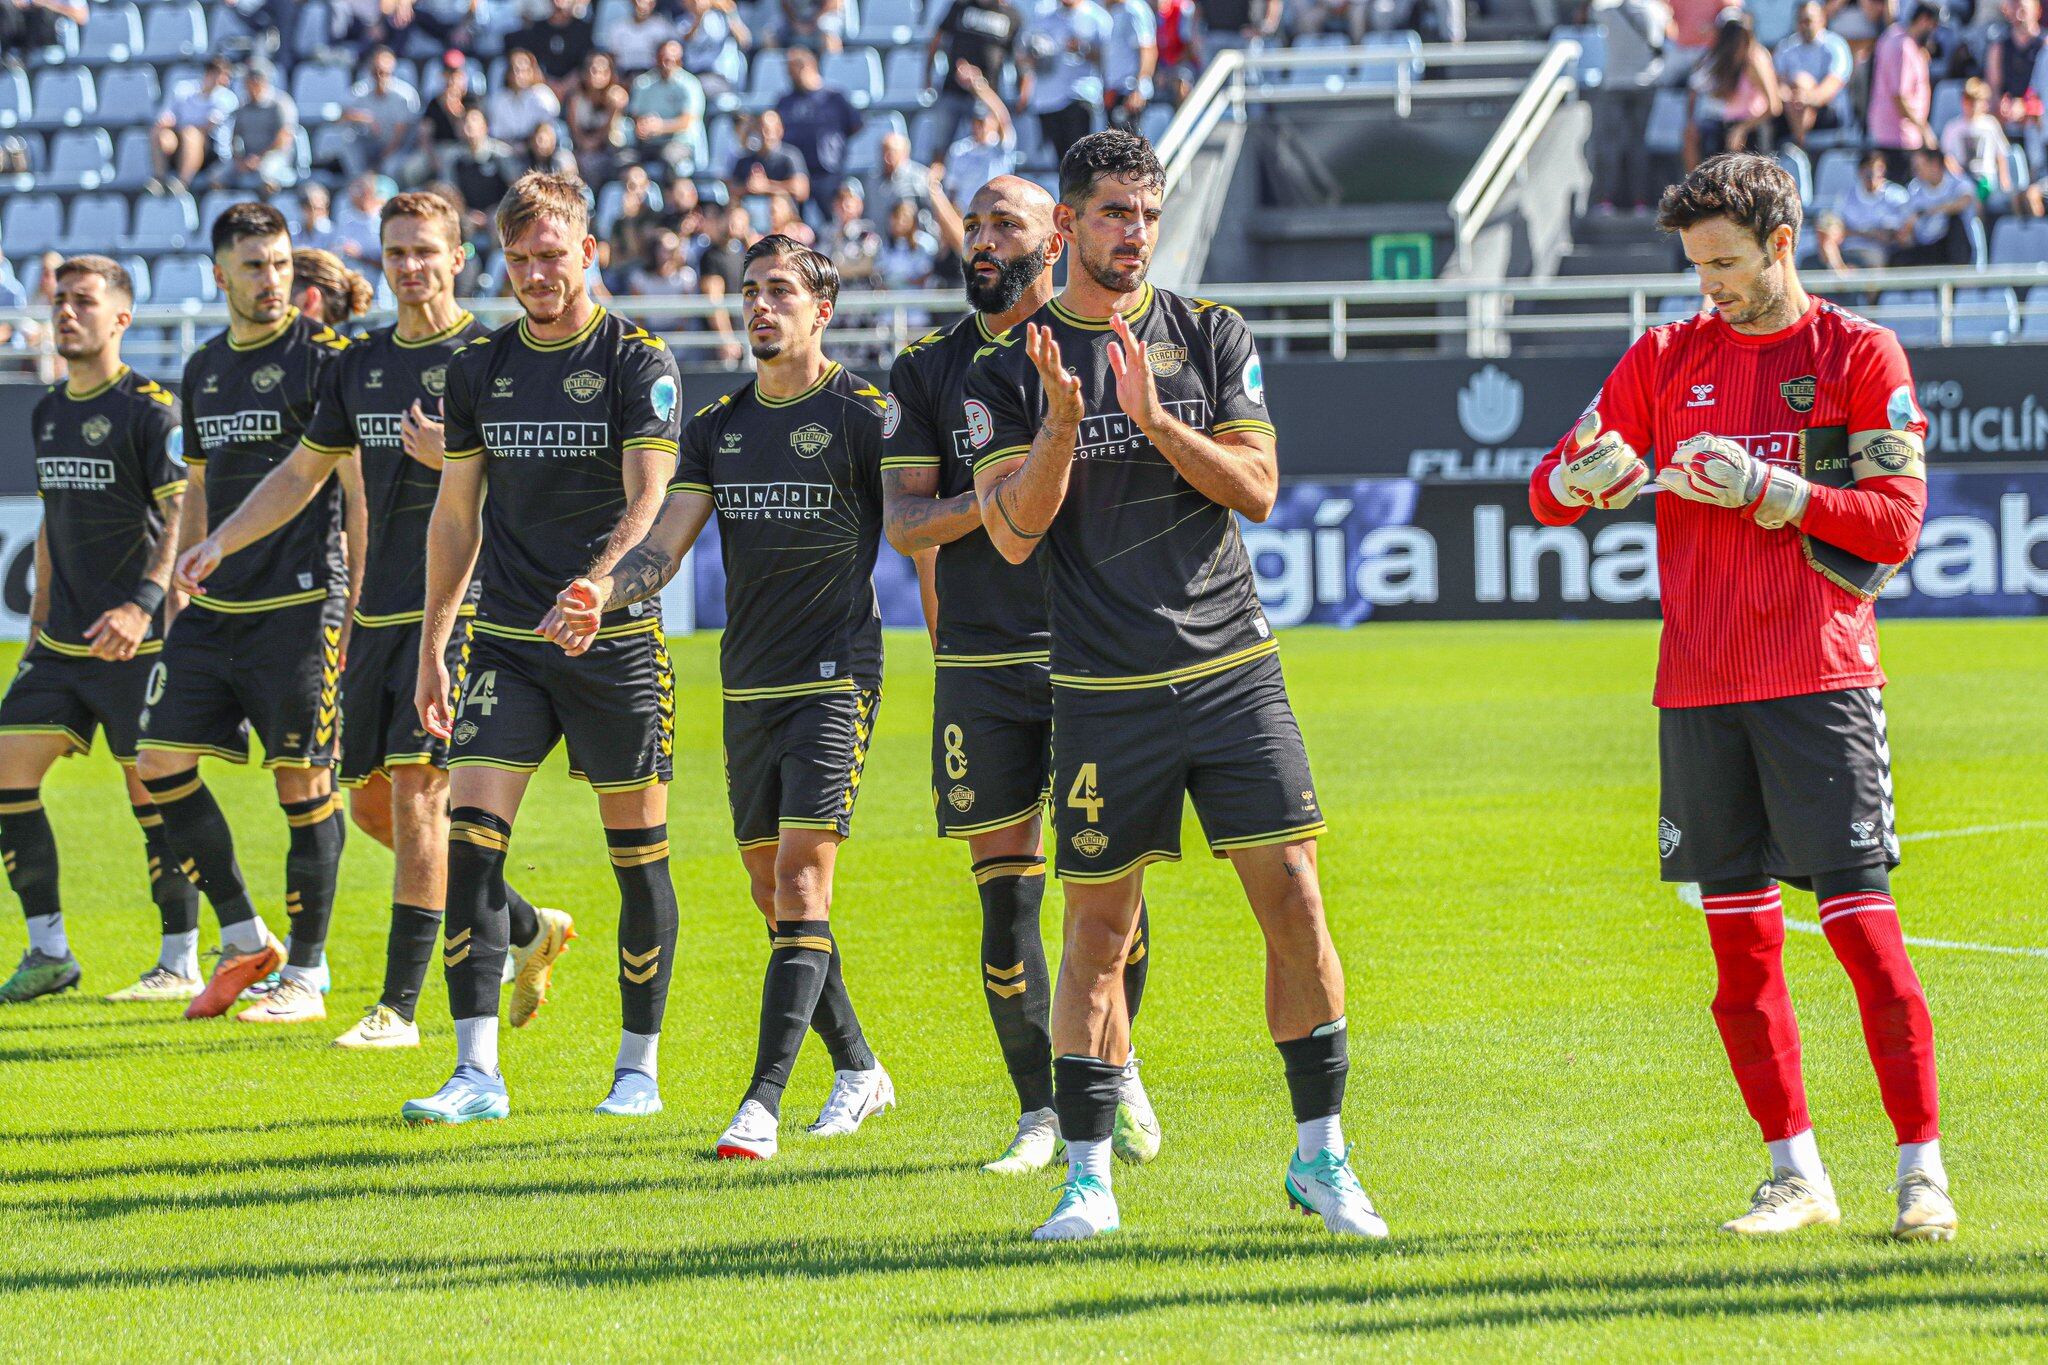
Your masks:
<path fill-rule="evenodd" d="M 219 563 L 262 540 L 319 495 L 334 473 L 354 473 L 367 505 L 362 587 L 342 667 L 342 786 L 348 814 L 395 853 L 391 933 L 383 995 L 336 1044 L 414 1048 L 426 968 L 440 937 L 449 849 L 449 751 L 420 729 L 420 618 L 426 598 L 426 520 L 440 485 L 440 395 L 449 360 L 487 332 L 455 303 L 463 233 L 455 205 L 438 194 L 389 199 L 381 217 L 383 270 L 397 299 L 397 323 L 356 338 L 328 368 L 319 407 L 291 458 L 279 465 L 211 536 L 178 561 L 180 587 L 197 587 Z M 305 256 L 299 252 L 297 256 Z M 305 266 L 299 266 L 305 280 Z M 360 463 L 350 460 L 360 450 Z M 350 469 L 358 465 L 358 469 Z M 471 583 L 469 602 L 475 602 Z M 449 669 L 463 671 L 469 616 L 449 645 Z M 506 886 L 512 915 L 512 1027 L 524 1025 L 547 995 L 555 960 L 573 925 L 561 911 L 535 909 Z"/>

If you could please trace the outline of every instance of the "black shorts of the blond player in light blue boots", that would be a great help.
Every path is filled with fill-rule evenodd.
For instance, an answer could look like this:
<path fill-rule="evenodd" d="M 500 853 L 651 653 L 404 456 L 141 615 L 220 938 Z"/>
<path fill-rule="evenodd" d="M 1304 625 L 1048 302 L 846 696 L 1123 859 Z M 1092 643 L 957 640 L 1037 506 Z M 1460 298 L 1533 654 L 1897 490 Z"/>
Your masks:
<path fill-rule="evenodd" d="M 674 772 L 676 677 L 662 622 L 600 636 L 578 657 L 473 622 L 449 767 L 532 772 L 569 743 L 569 776 L 633 792 Z"/>

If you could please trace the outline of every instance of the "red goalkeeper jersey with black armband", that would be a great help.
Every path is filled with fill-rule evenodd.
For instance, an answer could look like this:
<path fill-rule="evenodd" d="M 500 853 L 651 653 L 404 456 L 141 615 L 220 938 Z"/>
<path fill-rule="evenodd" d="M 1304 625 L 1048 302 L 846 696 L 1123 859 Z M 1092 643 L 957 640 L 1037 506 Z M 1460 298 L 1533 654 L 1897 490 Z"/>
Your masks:
<path fill-rule="evenodd" d="M 1747 336 L 1712 313 L 1651 327 L 1587 411 L 1653 471 L 1698 434 L 1741 442 L 1790 469 L 1798 469 L 1804 428 L 1845 426 L 1851 438 L 1892 430 L 1915 444 L 1927 434 L 1898 338 L 1821 299 L 1772 336 Z M 1559 501 L 1550 485 L 1569 440 L 1530 483 L 1530 505 L 1550 526 L 1587 512 Z M 1817 485 L 1802 528 L 1864 559 L 1901 563 L 1919 540 L 1925 508 L 1927 485 L 1917 477 Z M 1872 604 L 1806 565 L 1796 526 L 1763 530 L 1747 510 L 1659 491 L 1657 573 L 1665 618 L 1657 706 L 1884 686 Z"/>

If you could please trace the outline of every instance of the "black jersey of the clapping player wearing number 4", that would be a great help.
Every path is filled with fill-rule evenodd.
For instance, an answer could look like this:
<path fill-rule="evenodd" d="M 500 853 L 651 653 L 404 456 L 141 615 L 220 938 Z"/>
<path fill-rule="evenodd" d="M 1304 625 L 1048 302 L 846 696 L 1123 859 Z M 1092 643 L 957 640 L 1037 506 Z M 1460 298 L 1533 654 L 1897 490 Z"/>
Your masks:
<path fill-rule="evenodd" d="M 1053 329 L 1083 403 L 1067 499 L 1034 555 L 1044 561 L 1053 684 L 1145 688 L 1278 649 L 1237 516 L 1182 479 L 1116 403 L 1108 321 L 1077 317 L 1059 301 L 1030 321 Z M 1124 321 L 1147 344 L 1174 417 L 1210 436 L 1272 434 L 1260 356 L 1235 309 L 1147 284 Z M 1042 415 L 1020 323 L 967 375 L 963 422 L 975 469 L 1026 454 Z"/>

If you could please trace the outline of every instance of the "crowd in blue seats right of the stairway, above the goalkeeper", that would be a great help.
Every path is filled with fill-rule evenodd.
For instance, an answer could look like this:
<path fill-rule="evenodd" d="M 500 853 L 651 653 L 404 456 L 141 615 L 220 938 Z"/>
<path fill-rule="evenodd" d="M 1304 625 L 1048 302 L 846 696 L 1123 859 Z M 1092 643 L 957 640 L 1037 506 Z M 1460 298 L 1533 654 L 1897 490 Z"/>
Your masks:
<path fill-rule="evenodd" d="M 1686 168 L 1735 149 L 1798 164 L 1806 250 L 1835 270 L 1970 264 L 1972 223 L 2042 215 L 2040 0 L 1593 0 L 1583 18 L 1622 53 L 1595 121 L 1606 205 L 1655 199 L 1679 115 Z"/>

